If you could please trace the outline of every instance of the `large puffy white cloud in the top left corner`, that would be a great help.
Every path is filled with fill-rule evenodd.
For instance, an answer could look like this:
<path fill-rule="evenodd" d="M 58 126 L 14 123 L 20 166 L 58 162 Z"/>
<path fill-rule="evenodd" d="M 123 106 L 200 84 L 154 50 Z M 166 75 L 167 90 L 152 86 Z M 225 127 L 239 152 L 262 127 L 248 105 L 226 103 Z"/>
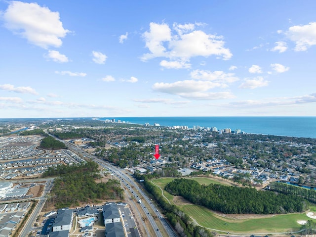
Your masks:
<path fill-rule="evenodd" d="M 52 12 L 37 3 L 10 1 L 3 20 L 8 30 L 42 48 L 60 47 L 61 38 L 69 33 L 63 28 L 59 12 Z"/>

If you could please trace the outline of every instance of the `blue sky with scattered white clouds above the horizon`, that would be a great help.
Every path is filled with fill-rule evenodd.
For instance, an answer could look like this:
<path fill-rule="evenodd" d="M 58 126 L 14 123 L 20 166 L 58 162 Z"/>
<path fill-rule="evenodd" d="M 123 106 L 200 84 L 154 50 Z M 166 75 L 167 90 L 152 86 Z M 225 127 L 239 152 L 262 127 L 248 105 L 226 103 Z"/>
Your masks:
<path fill-rule="evenodd" d="M 316 116 L 315 0 L 0 0 L 0 118 Z"/>

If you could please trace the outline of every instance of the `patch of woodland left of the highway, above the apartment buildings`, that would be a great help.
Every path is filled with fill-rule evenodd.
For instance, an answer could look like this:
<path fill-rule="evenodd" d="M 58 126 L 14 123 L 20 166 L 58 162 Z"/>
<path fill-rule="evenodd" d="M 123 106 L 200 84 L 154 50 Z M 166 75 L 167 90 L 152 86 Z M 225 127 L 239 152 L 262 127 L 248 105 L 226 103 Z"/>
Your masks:
<path fill-rule="evenodd" d="M 54 180 L 52 196 L 47 201 L 53 201 L 56 208 L 62 208 L 97 199 L 122 199 L 123 190 L 119 181 L 110 179 L 107 183 L 95 182 L 95 179 L 100 178 L 97 167 L 97 163 L 89 161 L 49 168 L 43 176 L 58 175 L 59 178 Z"/>

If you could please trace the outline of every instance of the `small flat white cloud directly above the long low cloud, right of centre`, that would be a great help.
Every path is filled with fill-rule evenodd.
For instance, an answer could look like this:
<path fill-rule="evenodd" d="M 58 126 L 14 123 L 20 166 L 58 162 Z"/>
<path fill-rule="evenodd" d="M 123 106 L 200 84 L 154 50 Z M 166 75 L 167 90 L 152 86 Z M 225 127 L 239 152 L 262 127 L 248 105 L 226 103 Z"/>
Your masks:
<path fill-rule="evenodd" d="M 203 81 L 214 81 L 218 83 L 233 83 L 238 81 L 239 79 L 235 77 L 234 73 L 225 73 L 223 71 L 203 71 L 203 70 L 194 70 L 191 72 L 191 77 L 196 80 Z M 226 87 L 226 84 L 222 86 Z"/>

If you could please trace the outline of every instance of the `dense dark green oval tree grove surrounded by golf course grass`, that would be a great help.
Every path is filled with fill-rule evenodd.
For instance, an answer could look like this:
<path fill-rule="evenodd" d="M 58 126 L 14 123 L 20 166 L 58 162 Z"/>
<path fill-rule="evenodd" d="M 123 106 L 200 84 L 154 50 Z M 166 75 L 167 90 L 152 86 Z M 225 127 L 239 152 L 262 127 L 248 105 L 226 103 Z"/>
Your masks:
<path fill-rule="evenodd" d="M 205 186 L 188 179 L 175 179 L 165 189 L 194 204 L 227 214 L 283 214 L 308 208 L 308 201 L 296 195 L 217 184 Z"/>

